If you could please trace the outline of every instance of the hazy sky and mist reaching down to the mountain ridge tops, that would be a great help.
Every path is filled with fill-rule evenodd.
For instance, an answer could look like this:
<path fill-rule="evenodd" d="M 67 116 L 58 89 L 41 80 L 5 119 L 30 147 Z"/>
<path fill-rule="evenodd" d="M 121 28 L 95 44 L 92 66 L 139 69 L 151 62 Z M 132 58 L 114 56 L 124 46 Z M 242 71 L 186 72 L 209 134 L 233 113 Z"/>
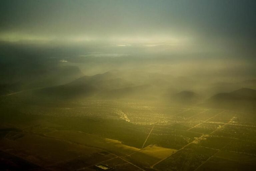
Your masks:
<path fill-rule="evenodd" d="M 255 9 L 255 0 L 1 0 L 0 71 L 255 79 Z"/>

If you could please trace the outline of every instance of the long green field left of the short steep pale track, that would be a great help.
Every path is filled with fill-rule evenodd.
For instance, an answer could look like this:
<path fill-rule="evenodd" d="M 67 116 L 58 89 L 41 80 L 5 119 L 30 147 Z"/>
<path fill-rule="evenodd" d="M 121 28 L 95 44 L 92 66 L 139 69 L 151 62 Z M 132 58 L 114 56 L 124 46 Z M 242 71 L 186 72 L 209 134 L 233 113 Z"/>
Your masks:
<path fill-rule="evenodd" d="M 54 118 L 53 118 L 54 119 Z M 57 120 L 58 119 L 58 120 Z M 136 125 L 124 120 L 90 120 L 86 117 L 57 118 L 55 123 L 65 130 L 82 131 L 88 134 L 121 141 L 123 144 L 140 148 L 152 126 Z"/>

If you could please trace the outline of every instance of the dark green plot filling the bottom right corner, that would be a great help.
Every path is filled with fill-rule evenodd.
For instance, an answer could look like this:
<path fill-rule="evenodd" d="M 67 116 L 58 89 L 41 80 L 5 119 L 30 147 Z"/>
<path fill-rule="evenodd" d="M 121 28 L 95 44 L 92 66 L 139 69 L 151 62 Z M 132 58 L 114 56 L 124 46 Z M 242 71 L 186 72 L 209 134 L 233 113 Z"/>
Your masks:
<path fill-rule="evenodd" d="M 256 157 L 219 151 L 196 171 L 254 171 Z"/>

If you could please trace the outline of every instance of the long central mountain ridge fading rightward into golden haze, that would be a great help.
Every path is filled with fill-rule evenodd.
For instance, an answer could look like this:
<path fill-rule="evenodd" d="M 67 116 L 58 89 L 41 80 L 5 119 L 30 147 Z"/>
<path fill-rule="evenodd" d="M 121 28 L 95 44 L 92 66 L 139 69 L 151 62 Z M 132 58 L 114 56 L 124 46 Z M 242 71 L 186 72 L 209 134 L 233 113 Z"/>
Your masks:
<path fill-rule="evenodd" d="M 94 76 L 83 76 L 68 84 L 44 88 L 38 96 L 95 99 L 154 99 L 168 88 L 165 75 L 156 73 L 109 71 Z"/>

